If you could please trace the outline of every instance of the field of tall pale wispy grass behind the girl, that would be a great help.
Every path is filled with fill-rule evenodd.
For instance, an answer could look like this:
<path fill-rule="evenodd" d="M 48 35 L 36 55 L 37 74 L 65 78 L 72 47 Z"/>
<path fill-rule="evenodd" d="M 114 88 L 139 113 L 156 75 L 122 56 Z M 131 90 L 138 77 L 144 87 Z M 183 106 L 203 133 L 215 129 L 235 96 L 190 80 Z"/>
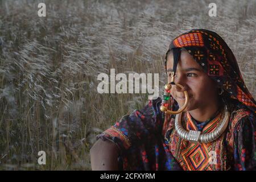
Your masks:
<path fill-rule="evenodd" d="M 90 170 L 95 136 L 147 103 L 99 94 L 98 74 L 159 73 L 163 86 L 168 44 L 192 28 L 222 36 L 255 98 L 256 1 L 214 1 L 216 17 L 211 2 L 0 0 L 0 169 Z"/>

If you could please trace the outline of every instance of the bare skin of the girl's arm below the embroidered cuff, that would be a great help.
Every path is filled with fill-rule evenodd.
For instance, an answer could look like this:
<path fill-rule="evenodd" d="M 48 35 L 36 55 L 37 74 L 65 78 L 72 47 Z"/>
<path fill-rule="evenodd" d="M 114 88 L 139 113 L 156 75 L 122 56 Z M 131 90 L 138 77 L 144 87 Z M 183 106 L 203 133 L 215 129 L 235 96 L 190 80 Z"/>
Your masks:
<path fill-rule="evenodd" d="M 90 149 L 90 162 L 93 171 L 118 170 L 118 147 L 109 140 L 98 139 Z"/>

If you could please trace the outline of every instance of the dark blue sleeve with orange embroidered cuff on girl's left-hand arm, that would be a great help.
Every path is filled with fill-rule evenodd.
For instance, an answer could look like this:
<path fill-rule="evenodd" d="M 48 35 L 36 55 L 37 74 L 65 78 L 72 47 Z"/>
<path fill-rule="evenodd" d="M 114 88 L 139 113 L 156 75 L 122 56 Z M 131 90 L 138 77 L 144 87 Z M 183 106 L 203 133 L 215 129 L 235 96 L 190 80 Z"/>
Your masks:
<path fill-rule="evenodd" d="M 124 115 L 104 133 L 97 135 L 97 139 L 110 139 L 117 143 L 119 148 L 125 150 L 133 144 L 148 140 L 159 133 L 162 125 L 161 101 L 161 98 L 149 100 L 142 109 L 136 109 L 131 114 Z"/>

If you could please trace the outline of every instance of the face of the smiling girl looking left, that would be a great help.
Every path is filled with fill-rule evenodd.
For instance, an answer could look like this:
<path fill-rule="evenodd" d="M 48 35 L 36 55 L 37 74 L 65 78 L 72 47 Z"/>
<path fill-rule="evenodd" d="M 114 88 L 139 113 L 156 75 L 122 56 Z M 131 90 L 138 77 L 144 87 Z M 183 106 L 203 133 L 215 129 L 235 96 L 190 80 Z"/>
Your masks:
<path fill-rule="evenodd" d="M 168 82 L 171 82 L 173 65 L 174 56 L 170 53 L 167 57 Z M 216 82 L 204 73 L 196 60 L 185 50 L 181 51 L 175 75 L 175 82 L 183 85 L 184 89 L 172 85 L 171 95 L 177 101 L 179 107 L 182 107 L 185 102 L 183 91 L 187 90 L 189 101 L 185 111 L 203 109 L 217 101 L 218 89 Z"/>

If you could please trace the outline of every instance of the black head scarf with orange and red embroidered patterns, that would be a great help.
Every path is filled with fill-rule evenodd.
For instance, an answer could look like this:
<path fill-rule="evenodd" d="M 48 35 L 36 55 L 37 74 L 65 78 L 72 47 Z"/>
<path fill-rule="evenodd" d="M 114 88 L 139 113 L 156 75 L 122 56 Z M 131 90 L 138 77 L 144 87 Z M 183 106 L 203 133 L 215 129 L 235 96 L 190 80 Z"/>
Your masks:
<path fill-rule="evenodd" d="M 225 96 L 240 101 L 256 112 L 256 102 L 246 88 L 236 57 L 218 34 L 205 29 L 193 29 L 177 36 L 166 53 L 165 68 L 168 52 L 173 51 L 176 71 L 181 48 L 185 48 L 204 72 L 224 89 Z"/>

